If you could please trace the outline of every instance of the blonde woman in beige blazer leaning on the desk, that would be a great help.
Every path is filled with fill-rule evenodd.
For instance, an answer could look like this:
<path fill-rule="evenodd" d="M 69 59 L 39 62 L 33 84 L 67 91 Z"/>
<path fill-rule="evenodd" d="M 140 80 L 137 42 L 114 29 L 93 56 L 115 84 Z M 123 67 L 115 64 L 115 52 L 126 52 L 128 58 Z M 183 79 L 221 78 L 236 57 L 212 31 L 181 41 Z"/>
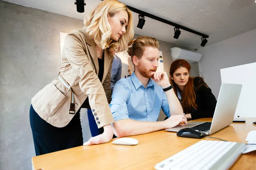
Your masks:
<path fill-rule="evenodd" d="M 106 143 L 113 137 L 108 105 L 111 63 L 113 53 L 124 51 L 134 36 L 132 14 L 123 3 L 104 0 L 84 25 L 65 38 L 58 77 L 32 98 L 29 116 L 37 156 L 83 144 L 80 109 L 89 103 L 104 133 L 84 145 Z"/>

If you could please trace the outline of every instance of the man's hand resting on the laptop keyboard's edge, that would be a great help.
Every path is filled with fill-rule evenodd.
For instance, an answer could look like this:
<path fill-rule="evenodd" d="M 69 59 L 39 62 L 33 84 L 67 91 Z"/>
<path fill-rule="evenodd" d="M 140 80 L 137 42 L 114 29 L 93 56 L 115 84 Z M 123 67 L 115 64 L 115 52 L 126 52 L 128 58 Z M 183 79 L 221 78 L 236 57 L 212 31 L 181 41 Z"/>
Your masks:
<path fill-rule="evenodd" d="M 188 123 L 186 117 L 183 115 L 172 115 L 171 117 L 169 117 L 163 122 L 165 123 L 164 126 L 166 129 L 175 127 L 177 125 Z"/>

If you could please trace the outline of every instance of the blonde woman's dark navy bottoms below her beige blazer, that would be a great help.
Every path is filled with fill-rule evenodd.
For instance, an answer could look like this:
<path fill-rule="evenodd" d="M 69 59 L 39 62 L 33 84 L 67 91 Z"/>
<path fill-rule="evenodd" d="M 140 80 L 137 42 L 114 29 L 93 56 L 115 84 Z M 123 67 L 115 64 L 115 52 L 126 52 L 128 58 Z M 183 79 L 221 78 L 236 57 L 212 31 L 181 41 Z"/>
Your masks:
<path fill-rule="evenodd" d="M 80 109 L 65 127 L 50 125 L 38 116 L 32 105 L 29 118 L 36 156 L 83 145 Z"/>

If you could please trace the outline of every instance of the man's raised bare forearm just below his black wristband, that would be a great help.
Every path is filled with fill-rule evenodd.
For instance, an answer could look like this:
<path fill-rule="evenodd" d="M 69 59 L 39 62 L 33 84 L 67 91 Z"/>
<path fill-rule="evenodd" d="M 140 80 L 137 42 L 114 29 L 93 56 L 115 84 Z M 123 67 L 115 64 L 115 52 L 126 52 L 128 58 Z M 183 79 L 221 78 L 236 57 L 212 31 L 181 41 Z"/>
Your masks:
<path fill-rule="evenodd" d="M 183 114 L 183 109 L 180 105 L 180 101 L 175 95 L 173 89 L 165 92 L 170 109 L 170 115 Z"/>

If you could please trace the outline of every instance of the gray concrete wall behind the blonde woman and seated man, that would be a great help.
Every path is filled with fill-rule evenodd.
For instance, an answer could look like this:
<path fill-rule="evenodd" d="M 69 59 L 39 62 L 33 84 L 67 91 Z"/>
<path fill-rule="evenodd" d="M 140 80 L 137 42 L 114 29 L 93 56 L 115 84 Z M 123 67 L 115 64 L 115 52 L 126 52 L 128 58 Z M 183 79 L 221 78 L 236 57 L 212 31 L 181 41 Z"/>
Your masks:
<path fill-rule="evenodd" d="M 31 169 L 31 98 L 58 75 L 59 32 L 82 27 L 82 20 L 0 1 L 0 170 Z M 170 48 L 178 45 L 159 42 L 168 73 Z M 198 74 L 197 63 L 193 69 Z M 81 123 L 85 141 L 90 138 L 86 111 Z"/>

